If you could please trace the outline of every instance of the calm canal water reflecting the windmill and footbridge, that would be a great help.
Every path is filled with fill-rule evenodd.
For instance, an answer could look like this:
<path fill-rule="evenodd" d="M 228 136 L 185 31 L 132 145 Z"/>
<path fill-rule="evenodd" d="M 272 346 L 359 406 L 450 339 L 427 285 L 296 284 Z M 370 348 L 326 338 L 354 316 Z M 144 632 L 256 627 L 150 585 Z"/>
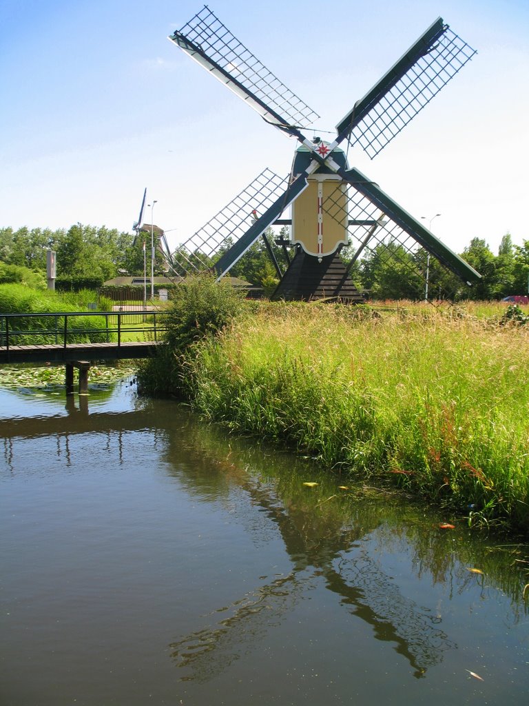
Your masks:
<path fill-rule="evenodd" d="M 0 417 L 2 706 L 528 702 L 527 546 L 133 381 Z"/>

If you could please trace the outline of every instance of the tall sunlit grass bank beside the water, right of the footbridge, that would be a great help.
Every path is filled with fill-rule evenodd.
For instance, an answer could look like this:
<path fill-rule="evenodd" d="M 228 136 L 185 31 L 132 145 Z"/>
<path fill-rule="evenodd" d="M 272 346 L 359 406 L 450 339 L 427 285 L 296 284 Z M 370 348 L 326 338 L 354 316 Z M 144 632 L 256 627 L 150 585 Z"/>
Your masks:
<path fill-rule="evenodd" d="M 528 342 L 454 309 L 265 306 L 195 347 L 186 388 L 231 429 L 527 531 Z"/>

